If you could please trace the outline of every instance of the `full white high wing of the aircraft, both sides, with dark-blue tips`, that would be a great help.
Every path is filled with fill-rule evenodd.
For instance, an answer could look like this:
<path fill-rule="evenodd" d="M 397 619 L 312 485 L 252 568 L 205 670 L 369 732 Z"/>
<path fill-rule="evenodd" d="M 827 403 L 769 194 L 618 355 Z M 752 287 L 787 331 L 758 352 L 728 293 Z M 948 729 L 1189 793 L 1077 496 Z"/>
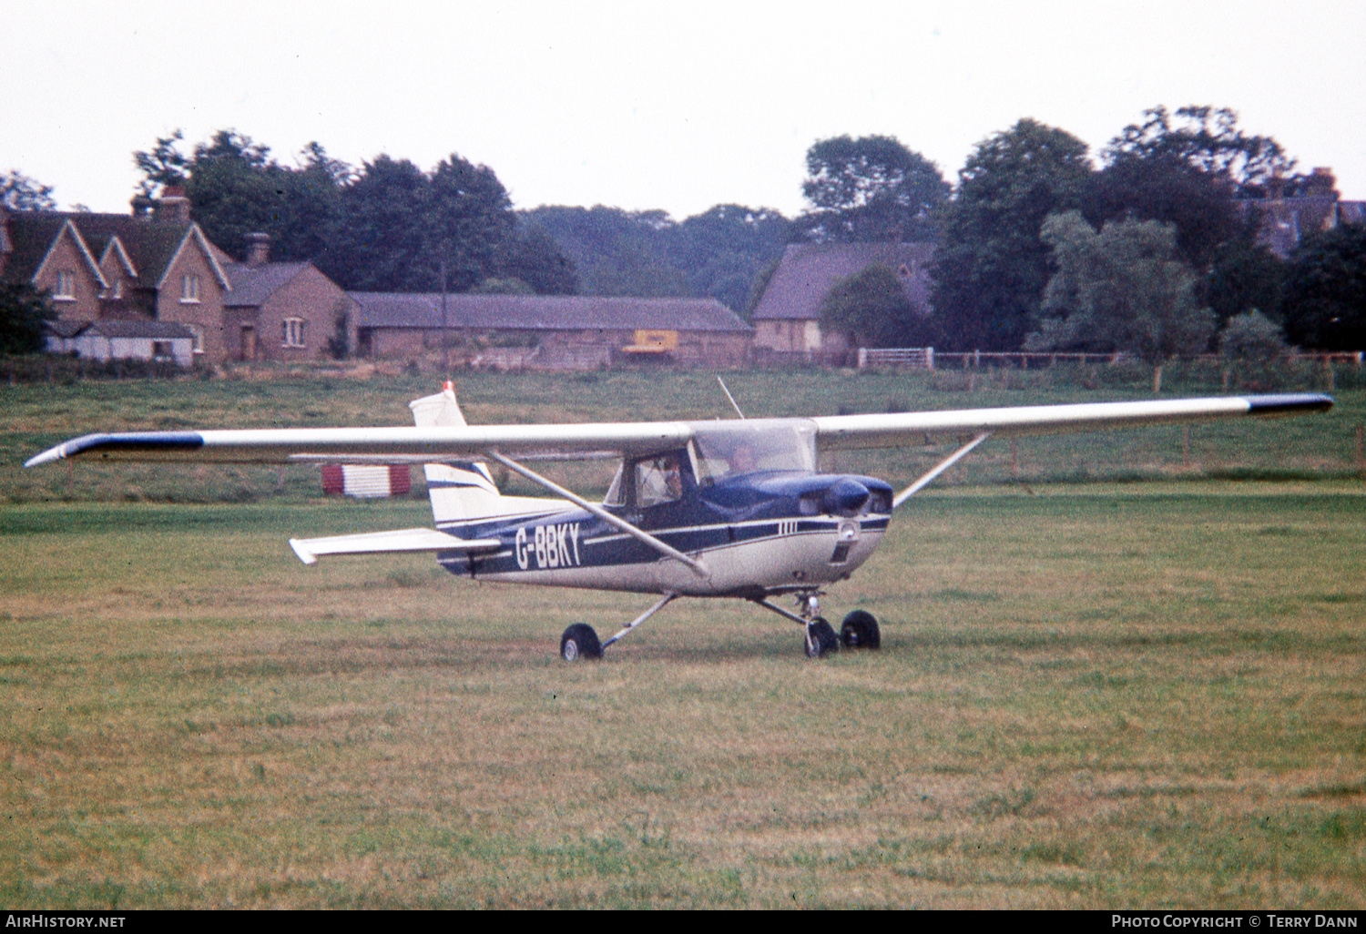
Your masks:
<path fill-rule="evenodd" d="M 828 449 L 888 448 L 979 434 L 1048 434 L 1218 418 L 1317 412 L 1333 400 L 1314 393 L 1218 396 L 1152 401 L 1020 406 L 876 415 L 822 415 L 817 444 Z M 781 422 L 784 419 L 765 419 Z M 489 452 L 535 457 L 646 455 L 682 447 L 703 422 L 582 425 L 471 425 L 436 427 L 234 429 L 86 434 L 29 459 L 221 463 L 440 463 L 486 459 Z"/>

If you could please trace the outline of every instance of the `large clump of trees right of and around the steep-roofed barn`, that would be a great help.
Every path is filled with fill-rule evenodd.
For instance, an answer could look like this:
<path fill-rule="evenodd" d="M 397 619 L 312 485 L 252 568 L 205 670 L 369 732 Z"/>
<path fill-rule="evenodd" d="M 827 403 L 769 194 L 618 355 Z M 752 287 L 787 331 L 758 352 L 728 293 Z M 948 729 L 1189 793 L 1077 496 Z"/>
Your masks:
<path fill-rule="evenodd" d="M 978 143 L 956 186 L 926 179 L 926 164 L 882 137 L 807 156 L 813 208 L 796 221 L 807 238 L 915 229 L 936 243 L 928 317 L 889 270 L 826 296 L 826 321 L 870 345 L 1126 351 L 1157 367 L 1212 350 L 1366 347 L 1366 228 L 1307 232 L 1284 259 L 1259 243 L 1272 202 L 1324 179 L 1296 173 L 1232 111 L 1146 111 L 1098 165 L 1081 139 L 1035 120 Z"/>

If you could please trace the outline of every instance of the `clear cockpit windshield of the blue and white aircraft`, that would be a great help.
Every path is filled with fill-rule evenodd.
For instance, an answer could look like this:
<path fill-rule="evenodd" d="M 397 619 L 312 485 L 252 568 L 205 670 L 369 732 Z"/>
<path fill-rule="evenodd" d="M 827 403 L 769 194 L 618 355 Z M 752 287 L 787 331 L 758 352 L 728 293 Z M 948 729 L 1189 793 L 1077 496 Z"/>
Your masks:
<path fill-rule="evenodd" d="M 807 422 L 694 422 L 693 429 L 702 486 L 734 474 L 816 470 L 816 426 Z"/>

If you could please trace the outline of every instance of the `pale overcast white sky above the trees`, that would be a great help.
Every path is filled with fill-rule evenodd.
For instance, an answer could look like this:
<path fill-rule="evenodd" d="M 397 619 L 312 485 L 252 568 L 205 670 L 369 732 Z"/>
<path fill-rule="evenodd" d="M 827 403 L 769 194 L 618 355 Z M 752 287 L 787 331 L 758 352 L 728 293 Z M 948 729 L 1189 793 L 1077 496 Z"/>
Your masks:
<path fill-rule="evenodd" d="M 490 167 L 516 208 L 806 208 L 818 139 L 896 137 L 953 182 L 1023 117 L 1098 154 L 1227 107 L 1366 199 L 1361 0 L 352 3 L 7 0 L 0 172 L 124 212 L 135 150 L 236 130 L 295 164 Z"/>

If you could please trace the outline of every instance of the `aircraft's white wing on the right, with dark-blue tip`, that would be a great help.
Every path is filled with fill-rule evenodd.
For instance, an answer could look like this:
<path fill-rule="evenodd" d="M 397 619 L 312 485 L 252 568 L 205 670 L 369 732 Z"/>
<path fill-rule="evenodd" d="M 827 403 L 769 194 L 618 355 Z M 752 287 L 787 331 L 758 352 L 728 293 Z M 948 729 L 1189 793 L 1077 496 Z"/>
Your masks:
<path fill-rule="evenodd" d="M 1149 401 L 1082 403 L 960 408 L 943 412 L 824 415 L 816 422 L 822 449 L 896 448 L 917 441 L 945 441 L 981 434 L 1019 436 L 1096 431 L 1142 425 L 1179 425 L 1220 418 L 1276 416 L 1322 412 L 1333 400 L 1317 393 L 1276 396 L 1214 396 Z"/>

